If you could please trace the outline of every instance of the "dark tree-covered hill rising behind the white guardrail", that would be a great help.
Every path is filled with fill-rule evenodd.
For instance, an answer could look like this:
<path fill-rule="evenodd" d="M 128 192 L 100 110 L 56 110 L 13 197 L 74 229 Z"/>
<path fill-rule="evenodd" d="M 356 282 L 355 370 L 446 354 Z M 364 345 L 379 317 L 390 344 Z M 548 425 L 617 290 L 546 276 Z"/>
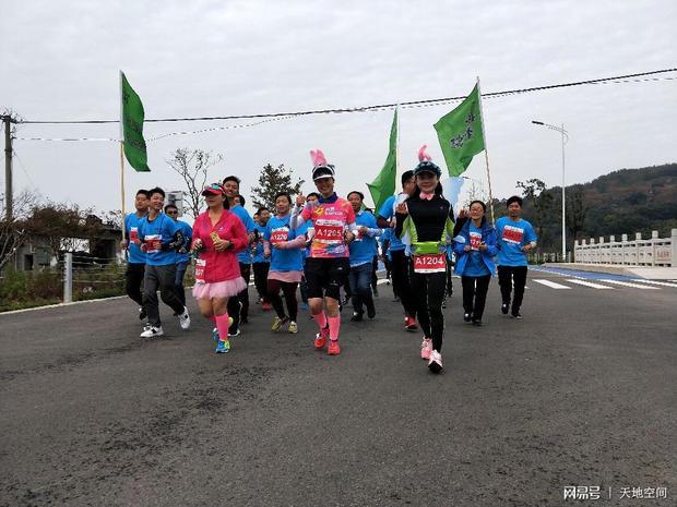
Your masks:
<path fill-rule="evenodd" d="M 561 188 L 554 186 L 547 210 L 541 220 L 544 251 L 561 249 Z M 590 183 L 567 186 L 567 249 L 575 239 L 606 239 L 615 234 L 643 238 L 657 230 L 667 237 L 677 228 L 677 164 L 621 169 L 602 176 Z M 497 207 L 503 215 L 504 205 Z M 524 218 L 538 221 L 533 203 L 525 201 Z"/>

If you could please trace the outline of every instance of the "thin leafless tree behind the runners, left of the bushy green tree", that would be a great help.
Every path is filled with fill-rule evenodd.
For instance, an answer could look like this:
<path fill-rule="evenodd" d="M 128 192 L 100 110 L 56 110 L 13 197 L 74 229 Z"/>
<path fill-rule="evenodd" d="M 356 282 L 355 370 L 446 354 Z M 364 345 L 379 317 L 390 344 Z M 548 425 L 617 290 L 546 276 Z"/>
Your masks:
<path fill-rule="evenodd" d="M 204 149 L 177 148 L 171 158 L 166 160 L 171 169 L 179 173 L 186 182 L 186 213 L 194 218 L 202 207 L 202 190 L 206 184 L 207 170 L 223 160 L 223 155 L 213 155 Z"/>

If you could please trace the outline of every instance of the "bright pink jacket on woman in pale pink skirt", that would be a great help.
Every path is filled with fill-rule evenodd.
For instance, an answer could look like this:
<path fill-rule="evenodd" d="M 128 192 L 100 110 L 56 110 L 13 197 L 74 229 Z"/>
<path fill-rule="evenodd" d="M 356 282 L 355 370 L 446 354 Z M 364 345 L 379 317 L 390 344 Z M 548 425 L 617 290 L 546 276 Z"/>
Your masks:
<path fill-rule="evenodd" d="M 225 252 L 216 252 L 211 233 L 216 232 L 222 240 L 233 242 L 233 248 Z M 212 227 L 209 210 L 201 213 L 193 224 L 193 241 L 200 239 L 203 250 L 199 257 L 206 262 L 204 281 L 214 283 L 233 280 L 240 276 L 240 264 L 236 254 L 247 248 L 249 238 L 242 221 L 233 213 L 225 209 L 221 219 Z"/>

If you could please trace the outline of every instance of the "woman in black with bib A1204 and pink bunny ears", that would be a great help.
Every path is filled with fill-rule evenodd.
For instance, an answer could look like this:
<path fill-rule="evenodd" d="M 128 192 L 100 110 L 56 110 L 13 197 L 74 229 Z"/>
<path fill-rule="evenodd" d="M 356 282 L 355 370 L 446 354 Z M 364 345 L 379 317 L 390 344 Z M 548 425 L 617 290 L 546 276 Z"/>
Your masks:
<path fill-rule="evenodd" d="M 412 291 L 418 322 L 425 334 L 420 357 L 428 360 L 431 372 L 440 373 L 447 270 L 444 239 L 453 236 L 453 209 L 442 197 L 442 171 L 431 161 L 426 147 L 424 145 L 418 150 L 419 164 L 414 169 L 415 191 L 405 203 L 397 205 L 395 234 L 406 238 L 412 246 Z"/>

